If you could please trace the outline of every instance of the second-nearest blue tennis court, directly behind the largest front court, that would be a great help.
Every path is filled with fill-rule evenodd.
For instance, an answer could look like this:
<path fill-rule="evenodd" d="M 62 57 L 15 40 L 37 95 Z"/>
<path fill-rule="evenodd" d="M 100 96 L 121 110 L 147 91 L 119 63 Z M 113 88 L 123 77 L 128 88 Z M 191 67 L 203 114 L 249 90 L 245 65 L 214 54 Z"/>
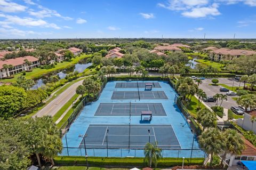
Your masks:
<path fill-rule="evenodd" d="M 151 111 L 153 115 L 166 116 L 161 103 L 100 103 L 95 116 L 140 116 L 141 111 Z"/>

